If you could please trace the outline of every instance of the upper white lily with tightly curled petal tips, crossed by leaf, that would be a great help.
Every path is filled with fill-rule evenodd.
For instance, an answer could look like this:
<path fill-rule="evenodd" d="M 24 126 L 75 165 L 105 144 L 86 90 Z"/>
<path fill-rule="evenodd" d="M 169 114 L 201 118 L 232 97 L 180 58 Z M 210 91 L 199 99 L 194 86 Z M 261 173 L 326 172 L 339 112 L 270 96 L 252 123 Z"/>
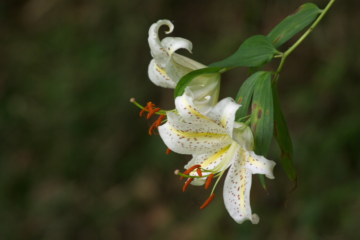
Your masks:
<path fill-rule="evenodd" d="M 148 43 L 153 59 L 148 66 L 148 76 L 157 86 L 175 88 L 176 83 L 185 74 L 207 66 L 175 53 L 179 48 L 185 48 L 191 52 L 192 43 L 189 40 L 165 37 L 160 41 L 158 29 L 161 25 L 169 27 L 169 30 L 165 31 L 166 34 L 172 32 L 174 28 L 169 20 L 158 20 L 150 26 Z M 220 88 L 220 73 L 198 76 L 190 82 L 187 88 L 193 92 L 195 101 L 203 101 L 206 96 L 210 96 L 210 103 L 215 105 Z"/>

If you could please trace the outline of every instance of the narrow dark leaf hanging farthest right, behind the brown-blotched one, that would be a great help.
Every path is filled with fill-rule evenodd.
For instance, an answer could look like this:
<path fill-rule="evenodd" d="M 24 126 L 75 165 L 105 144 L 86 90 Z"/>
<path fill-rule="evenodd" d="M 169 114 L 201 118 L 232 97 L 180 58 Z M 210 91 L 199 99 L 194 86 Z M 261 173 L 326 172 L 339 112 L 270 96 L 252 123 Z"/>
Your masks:
<path fill-rule="evenodd" d="M 286 126 L 285 118 L 282 115 L 280 101 L 277 92 L 277 79 L 272 83 L 272 97 L 274 106 L 274 131 L 275 137 L 280 148 L 280 160 L 287 176 L 296 182 L 296 171 L 292 163 L 292 144 L 290 134 Z"/>

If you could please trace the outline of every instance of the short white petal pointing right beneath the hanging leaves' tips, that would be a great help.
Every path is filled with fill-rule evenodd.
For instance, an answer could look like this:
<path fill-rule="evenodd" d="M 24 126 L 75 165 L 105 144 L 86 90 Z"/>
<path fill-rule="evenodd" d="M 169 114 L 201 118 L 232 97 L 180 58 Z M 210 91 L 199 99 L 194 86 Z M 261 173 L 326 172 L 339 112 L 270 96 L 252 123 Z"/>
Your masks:
<path fill-rule="evenodd" d="M 246 164 L 244 169 L 249 170 L 252 174 L 265 174 L 269 179 L 273 179 L 272 170 L 276 163 L 274 161 L 267 160 L 263 156 L 258 156 L 254 152 L 247 152 L 245 148 L 244 157 Z"/>

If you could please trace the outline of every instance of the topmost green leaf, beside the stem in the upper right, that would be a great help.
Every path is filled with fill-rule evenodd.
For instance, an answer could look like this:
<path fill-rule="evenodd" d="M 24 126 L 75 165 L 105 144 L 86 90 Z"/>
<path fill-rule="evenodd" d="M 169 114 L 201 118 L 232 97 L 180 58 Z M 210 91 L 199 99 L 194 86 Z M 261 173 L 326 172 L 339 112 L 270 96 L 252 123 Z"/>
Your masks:
<path fill-rule="evenodd" d="M 278 47 L 310 24 L 321 11 L 315 4 L 305 3 L 277 24 L 267 37 Z"/>

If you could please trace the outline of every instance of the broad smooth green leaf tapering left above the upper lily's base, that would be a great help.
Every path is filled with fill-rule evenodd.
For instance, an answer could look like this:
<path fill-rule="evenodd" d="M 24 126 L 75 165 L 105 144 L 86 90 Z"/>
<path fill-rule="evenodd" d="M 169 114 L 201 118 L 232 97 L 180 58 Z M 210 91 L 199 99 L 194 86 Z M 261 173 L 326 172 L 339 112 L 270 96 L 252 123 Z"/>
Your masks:
<path fill-rule="evenodd" d="M 261 66 L 271 61 L 277 51 L 272 41 L 262 35 L 246 39 L 237 51 L 222 61 L 211 63 L 210 67 Z"/>

